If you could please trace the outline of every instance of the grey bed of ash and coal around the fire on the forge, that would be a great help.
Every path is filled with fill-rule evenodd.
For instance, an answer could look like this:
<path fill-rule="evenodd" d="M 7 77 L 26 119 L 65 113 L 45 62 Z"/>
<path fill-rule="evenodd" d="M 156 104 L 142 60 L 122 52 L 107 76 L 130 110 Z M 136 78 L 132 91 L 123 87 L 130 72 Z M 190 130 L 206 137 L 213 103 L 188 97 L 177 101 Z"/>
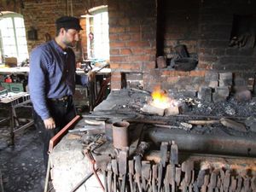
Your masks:
<path fill-rule="evenodd" d="M 169 96 L 178 102 L 180 113 L 162 117 L 141 111 L 144 104 L 151 100 L 150 92 L 136 89 L 113 90 L 108 98 L 94 109 L 97 112 L 134 114 L 141 119 L 166 121 L 170 129 L 177 127 L 196 134 L 216 134 L 239 137 L 256 136 L 256 98 L 247 102 L 238 102 L 230 96 L 225 102 L 207 102 L 197 97 L 184 96 L 181 92 L 169 92 Z M 189 120 L 233 119 L 235 125 L 224 126 L 218 122 L 212 125 L 193 125 L 184 127 Z M 241 127 L 236 127 L 239 123 Z M 185 126 L 187 126 L 185 124 Z M 234 126 L 234 127 L 232 127 Z M 245 127 L 244 130 L 242 128 Z M 241 129 L 241 131 L 239 130 Z"/>

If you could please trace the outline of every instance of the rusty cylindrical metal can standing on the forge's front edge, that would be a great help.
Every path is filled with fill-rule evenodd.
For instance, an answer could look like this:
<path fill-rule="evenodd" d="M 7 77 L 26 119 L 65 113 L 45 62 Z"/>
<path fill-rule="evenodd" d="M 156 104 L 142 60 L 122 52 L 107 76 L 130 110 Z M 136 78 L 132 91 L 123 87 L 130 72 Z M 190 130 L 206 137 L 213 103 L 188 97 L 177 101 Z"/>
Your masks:
<path fill-rule="evenodd" d="M 129 123 L 125 120 L 114 122 L 113 128 L 113 147 L 122 149 L 129 147 Z"/>

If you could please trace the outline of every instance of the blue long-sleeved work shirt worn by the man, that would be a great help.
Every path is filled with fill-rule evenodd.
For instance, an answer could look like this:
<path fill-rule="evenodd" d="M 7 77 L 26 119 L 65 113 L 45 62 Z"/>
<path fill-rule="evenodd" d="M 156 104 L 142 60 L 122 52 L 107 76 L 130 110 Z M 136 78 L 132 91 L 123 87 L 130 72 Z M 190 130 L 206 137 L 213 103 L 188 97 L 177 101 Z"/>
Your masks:
<path fill-rule="evenodd" d="M 73 96 L 76 84 L 76 63 L 73 49 L 65 50 L 51 40 L 32 50 L 29 92 L 34 110 L 42 119 L 51 117 L 47 99 Z M 87 84 L 88 78 L 80 79 Z"/>

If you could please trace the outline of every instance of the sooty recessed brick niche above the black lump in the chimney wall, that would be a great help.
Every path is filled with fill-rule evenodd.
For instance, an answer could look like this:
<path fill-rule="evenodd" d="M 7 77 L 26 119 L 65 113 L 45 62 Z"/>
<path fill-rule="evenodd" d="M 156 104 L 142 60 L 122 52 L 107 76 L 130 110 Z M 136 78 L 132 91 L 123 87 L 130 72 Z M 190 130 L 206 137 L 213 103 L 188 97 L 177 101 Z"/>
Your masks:
<path fill-rule="evenodd" d="M 163 10 L 164 23 L 161 26 L 164 37 L 164 54 L 172 58 L 174 47 L 178 44 L 185 44 L 189 55 L 197 55 L 198 52 L 198 19 L 199 1 L 165 1 Z"/>

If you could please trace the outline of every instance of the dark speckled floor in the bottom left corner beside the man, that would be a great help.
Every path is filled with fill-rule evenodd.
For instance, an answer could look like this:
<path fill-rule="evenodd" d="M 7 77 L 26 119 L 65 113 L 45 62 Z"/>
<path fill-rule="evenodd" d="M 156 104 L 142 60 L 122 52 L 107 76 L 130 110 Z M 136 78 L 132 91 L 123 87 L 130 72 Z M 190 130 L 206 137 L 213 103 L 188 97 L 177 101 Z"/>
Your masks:
<path fill-rule="evenodd" d="M 7 129 L 8 126 L 1 127 Z M 32 126 L 15 137 L 15 146 L 0 138 L 0 171 L 4 192 L 42 192 L 44 190 L 43 146 Z M 1 189 L 0 189 L 1 190 Z"/>

